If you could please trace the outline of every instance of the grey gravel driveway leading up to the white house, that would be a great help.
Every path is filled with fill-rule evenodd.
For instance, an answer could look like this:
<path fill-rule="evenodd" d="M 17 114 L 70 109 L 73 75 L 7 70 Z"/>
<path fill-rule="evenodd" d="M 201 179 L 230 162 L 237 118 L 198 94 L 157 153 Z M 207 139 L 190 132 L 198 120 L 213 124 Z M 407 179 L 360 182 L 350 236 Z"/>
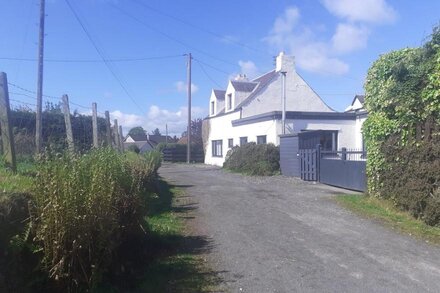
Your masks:
<path fill-rule="evenodd" d="M 339 207 L 344 190 L 206 165 L 159 172 L 196 203 L 227 291 L 440 292 L 440 249 Z"/>

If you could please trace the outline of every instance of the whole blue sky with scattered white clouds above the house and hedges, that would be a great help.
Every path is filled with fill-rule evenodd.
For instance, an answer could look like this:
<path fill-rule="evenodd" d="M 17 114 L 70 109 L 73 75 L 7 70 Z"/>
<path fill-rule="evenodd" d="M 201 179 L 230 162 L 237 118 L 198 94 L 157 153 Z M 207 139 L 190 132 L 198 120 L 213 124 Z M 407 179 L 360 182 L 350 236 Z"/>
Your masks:
<path fill-rule="evenodd" d="M 35 91 L 37 62 L 17 59 L 37 56 L 39 1 L 1 2 L 0 71 Z M 178 135 L 186 127 L 186 53 L 194 57 L 193 117 L 207 114 L 212 88 L 225 88 L 238 73 L 271 70 L 281 50 L 295 55 L 297 71 L 343 111 L 363 93 L 380 54 L 420 46 L 440 21 L 437 0 L 69 2 L 108 66 L 67 2 L 46 0 L 44 94 L 55 99 L 45 101 L 68 94 L 77 105 L 97 102 L 126 131 L 141 125 L 165 132 L 167 123 Z M 34 94 L 9 90 L 13 105 L 33 108 Z M 77 105 L 71 109 L 90 111 Z"/>

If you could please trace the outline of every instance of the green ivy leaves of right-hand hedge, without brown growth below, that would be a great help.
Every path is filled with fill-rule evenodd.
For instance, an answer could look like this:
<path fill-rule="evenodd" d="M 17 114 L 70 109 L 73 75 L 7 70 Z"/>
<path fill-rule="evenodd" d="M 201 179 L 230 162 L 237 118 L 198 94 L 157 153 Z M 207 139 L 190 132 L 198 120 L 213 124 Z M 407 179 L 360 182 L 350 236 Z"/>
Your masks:
<path fill-rule="evenodd" d="M 435 27 L 431 38 L 419 48 L 405 48 L 380 56 L 368 71 L 365 94 L 365 107 L 369 112 L 363 126 L 368 151 L 368 192 L 390 197 L 389 192 L 393 190 L 390 185 L 399 187 L 398 178 L 390 180 L 390 174 L 394 174 L 396 168 L 411 173 L 420 163 L 418 156 L 402 156 L 418 150 L 432 152 L 430 145 L 439 141 L 440 27 Z M 391 144 L 397 147 L 394 152 L 387 151 Z M 437 164 L 438 160 L 439 157 L 431 161 Z M 432 173 L 432 168 L 428 169 Z M 440 169 L 437 173 L 440 174 Z M 410 180 L 411 176 L 405 178 Z M 440 178 L 428 179 L 427 184 L 432 186 L 424 189 L 426 196 L 438 196 Z M 399 197 L 391 197 L 399 205 L 396 196 Z M 408 194 L 402 196 L 411 198 Z M 426 205 L 425 202 L 419 204 Z M 408 206 L 403 208 L 409 209 Z M 419 210 L 425 208 L 419 207 Z M 417 216 L 423 217 L 423 212 Z"/>

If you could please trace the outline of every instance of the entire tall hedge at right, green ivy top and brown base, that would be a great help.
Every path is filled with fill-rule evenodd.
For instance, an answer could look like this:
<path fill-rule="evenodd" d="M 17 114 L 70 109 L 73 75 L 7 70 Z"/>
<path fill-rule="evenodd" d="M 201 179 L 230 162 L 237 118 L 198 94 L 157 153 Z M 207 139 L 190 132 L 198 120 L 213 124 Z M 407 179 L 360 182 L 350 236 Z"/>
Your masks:
<path fill-rule="evenodd" d="M 438 183 L 433 183 L 438 182 L 433 175 L 439 170 L 438 157 L 430 155 L 436 151 L 438 134 L 431 140 L 428 129 L 436 124 L 438 130 L 440 124 L 439 27 L 422 47 L 394 51 L 375 61 L 365 91 L 368 192 L 389 197 L 425 222 L 438 224 Z M 422 125 L 428 127 L 423 134 Z"/>

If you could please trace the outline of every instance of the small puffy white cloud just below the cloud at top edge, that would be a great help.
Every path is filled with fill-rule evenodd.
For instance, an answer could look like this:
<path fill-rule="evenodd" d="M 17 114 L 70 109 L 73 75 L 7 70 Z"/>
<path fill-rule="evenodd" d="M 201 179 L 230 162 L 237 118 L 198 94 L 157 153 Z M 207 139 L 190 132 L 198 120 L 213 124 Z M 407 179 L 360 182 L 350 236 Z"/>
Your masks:
<path fill-rule="evenodd" d="M 367 46 L 370 31 L 365 26 L 340 23 L 332 37 L 333 50 L 337 53 L 349 53 Z"/>

